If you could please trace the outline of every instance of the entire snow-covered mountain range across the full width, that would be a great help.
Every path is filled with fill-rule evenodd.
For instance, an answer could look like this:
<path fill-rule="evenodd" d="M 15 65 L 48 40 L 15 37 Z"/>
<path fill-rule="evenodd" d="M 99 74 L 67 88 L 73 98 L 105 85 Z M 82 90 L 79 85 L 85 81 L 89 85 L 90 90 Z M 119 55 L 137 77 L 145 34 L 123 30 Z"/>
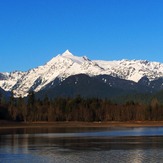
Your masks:
<path fill-rule="evenodd" d="M 163 77 L 163 64 L 141 60 L 91 61 L 66 50 L 45 65 L 27 72 L 0 73 L 0 87 L 6 91 L 13 90 L 16 97 L 27 96 L 29 91 L 37 92 L 57 77 L 62 81 L 81 73 L 89 76 L 106 74 L 138 82 L 143 76 L 150 80 Z"/>

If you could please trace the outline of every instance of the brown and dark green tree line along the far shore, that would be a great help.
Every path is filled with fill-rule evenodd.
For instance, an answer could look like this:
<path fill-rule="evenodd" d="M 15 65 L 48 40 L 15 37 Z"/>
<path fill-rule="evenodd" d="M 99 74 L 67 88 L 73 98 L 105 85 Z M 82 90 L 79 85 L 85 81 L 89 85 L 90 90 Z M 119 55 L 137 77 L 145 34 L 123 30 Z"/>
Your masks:
<path fill-rule="evenodd" d="M 147 104 L 133 101 L 116 104 L 107 99 L 58 97 L 55 99 L 36 99 L 31 92 L 28 97 L 10 97 L 5 101 L 0 96 L 0 119 L 37 121 L 161 121 L 163 106 L 157 98 Z"/>

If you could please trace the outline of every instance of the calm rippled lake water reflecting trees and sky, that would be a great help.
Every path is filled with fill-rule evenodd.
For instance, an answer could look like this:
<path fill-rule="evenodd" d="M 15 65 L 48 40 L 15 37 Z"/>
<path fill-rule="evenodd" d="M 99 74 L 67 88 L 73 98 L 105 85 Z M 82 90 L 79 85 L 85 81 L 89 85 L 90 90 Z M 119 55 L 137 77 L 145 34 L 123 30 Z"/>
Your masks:
<path fill-rule="evenodd" d="M 163 127 L 0 130 L 0 162 L 159 163 Z"/>

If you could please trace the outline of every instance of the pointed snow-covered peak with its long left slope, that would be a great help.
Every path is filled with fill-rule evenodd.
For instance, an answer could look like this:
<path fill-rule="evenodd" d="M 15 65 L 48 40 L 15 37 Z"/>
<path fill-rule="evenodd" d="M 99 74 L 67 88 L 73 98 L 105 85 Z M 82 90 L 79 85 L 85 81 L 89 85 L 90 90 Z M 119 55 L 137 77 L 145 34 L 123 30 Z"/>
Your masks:
<path fill-rule="evenodd" d="M 87 57 L 73 56 L 68 50 L 62 55 L 52 58 L 43 66 L 27 72 L 18 72 L 7 75 L 0 80 L 0 87 L 4 90 L 13 90 L 16 97 L 27 96 L 30 90 L 39 91 L 56 77 L 61 80 L 75 74 L 99 74 L 101 68 Z M 19 75 L 20 74 L 20 75 Z M 13 76 L 13 77 L 12 77 Z"/>

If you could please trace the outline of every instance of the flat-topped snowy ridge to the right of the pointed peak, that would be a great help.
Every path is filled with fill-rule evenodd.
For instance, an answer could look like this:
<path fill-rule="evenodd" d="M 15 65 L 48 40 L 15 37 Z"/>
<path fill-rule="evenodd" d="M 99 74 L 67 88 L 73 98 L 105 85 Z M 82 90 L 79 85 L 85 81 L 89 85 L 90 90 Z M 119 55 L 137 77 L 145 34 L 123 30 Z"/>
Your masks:
<path fill-rule="evenodd" d="M 143 60 L 94 61 L 105 69 L 105 74 L 138 82 L 143 76 L 149 80 L 163 77 L 163 64 Z"/>

